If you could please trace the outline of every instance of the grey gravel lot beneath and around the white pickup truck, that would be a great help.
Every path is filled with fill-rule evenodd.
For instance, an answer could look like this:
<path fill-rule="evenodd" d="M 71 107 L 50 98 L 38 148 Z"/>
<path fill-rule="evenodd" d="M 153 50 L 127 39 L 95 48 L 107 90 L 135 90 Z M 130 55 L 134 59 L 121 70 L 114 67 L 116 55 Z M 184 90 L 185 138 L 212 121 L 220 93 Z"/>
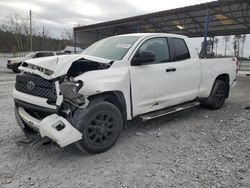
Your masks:
<path fill-rule="evenodd" d="M 250 77 L 238 78 L 221 110 L 129 122 L 99 155 L 18 143 L 14 79 L 0 68 L 0 187 L 250 187 Z"/>

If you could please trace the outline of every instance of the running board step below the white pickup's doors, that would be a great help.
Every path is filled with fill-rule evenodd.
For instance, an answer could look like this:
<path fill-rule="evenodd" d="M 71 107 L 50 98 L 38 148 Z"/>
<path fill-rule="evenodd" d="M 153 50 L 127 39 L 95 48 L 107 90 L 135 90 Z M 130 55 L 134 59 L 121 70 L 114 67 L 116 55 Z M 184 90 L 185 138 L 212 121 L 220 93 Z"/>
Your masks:
<path fill-rule="evenodd" d="M 193 107 L 199 106 L 199 105 L 200 105 L 199 101 L 192 101 L 192 102 L 184 103 L 184 104 L 181 104 L 181 105 L 165 108 L 165 109 L 162 109 L 162 110 L 150 112 L 150 113 L 141 115 L 139 117 L 142 119 L 142 121 L 147 121 L 147 120 L 155 119 L 155 118 L 165 116 L 165 115 L 168 115 L 168 114 L 172 114 L 172 113 L 175 113 L 175 112 L 178 112 L 178 111 L 186 110 L 188 108 L 193 108 Z"/>

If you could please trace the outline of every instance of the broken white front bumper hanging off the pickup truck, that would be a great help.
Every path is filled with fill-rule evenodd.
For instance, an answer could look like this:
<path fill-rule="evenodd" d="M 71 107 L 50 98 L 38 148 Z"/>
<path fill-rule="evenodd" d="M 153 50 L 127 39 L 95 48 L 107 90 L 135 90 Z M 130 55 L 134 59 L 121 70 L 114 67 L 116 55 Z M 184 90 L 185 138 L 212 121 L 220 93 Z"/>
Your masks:
<path fill-rule="evenodd" d="M 15 107 L 15 115 L 19 126 L 24 130 L 25 125 L 40 133 L 41 137 L 48 137 L 60 147 L 65 147 L 82 139 L 82 134 L 65 118 L 52 114 L 42 120 L 28 114 L 23 107 Z M 24 125 L 24 123 L 25 125 Z"/>

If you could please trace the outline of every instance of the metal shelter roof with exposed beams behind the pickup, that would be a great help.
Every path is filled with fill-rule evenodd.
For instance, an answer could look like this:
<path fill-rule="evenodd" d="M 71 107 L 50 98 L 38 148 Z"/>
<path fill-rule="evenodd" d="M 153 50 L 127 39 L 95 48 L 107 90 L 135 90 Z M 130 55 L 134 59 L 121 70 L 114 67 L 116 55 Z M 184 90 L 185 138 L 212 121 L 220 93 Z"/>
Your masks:
<path fill-rule="evenodd" d="M 134 32 L 164 32 L 202 37 L 207 11 L 210 16 L 208 36 L 250 34 L 250 0 L 218 0 L 75 27 L 74 32 L 102 34 L 102 37 Z"/>

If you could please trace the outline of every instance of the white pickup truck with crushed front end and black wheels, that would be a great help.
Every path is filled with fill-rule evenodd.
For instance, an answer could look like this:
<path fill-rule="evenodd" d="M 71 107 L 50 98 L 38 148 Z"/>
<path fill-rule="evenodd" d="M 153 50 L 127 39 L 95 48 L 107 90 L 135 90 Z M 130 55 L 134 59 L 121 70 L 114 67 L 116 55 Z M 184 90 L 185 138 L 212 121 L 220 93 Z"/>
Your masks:
<path fill-rule="evenodd" d="M 100 153 L 124 123 L 202 104 L 219 109 L 236 59 L 199 59 L 190 39 L 160 33 L 100 40 L 82 54 L 25 61 L 13 91 L 18 124 L 60 147 Z"/>

